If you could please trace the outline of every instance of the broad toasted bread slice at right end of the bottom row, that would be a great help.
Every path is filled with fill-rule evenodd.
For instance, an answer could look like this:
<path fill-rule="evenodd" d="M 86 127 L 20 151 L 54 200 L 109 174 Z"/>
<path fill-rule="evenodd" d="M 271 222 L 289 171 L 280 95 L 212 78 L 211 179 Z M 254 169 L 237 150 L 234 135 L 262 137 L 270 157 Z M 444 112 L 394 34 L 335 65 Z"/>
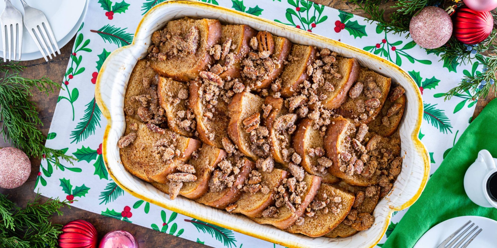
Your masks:
<path fill-rule="evenodd" d="M 313 217 L 304 215 L 304 224 L 293 225 L 285 231 L 289 233 L 301 233 L 309 237 L 321 237 L 333 230 L 347 216 L 352 204 L 354 203 L 354 195 L 343 191 L 339 188 L 327 184 L 321 184 L 316 197 L 322 199 L 322 195 L 326 194 L 330 197 L 340 197 L 341 201 L 336 203 L 330 201 L 327 204 L 328 209 L 319 209 L 315 211 Z"/>

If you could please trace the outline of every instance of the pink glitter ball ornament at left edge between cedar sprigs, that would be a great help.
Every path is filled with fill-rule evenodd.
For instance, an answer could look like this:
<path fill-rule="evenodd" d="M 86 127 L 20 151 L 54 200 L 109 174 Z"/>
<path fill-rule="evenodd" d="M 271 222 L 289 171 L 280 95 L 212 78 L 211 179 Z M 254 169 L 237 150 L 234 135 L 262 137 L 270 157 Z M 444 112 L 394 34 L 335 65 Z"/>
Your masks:
<path fill-rule="evenodd" d="M 23 151 L 14 147 L 0 149 L 0 187 L 23 185 L 31 173 L 31 162 Z"/>

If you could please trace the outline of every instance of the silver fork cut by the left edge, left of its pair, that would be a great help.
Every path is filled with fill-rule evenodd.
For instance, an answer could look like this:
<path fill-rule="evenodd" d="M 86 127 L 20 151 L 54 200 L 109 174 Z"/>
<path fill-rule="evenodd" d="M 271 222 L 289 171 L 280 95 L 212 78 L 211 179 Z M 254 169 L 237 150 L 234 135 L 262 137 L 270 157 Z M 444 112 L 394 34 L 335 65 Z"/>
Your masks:
<path fill-rule="evenodd" d="M 7 51 L 8 60 L 12 60 L 12 53 L 14 54 L 14 60 L 20 60 L 23 30 L 22 14 L 12 5 L 10 0 L 5 0 L 5 9 L 0 15 L 0 28 L 1 42 L 3 44 L 3 62 L 7 61 Z M 12 43 L 10 43 L 10 38 L 13 40 Z M 16 53 L 16 50 L 18 50 L 18 53 Z M 18 58 L 16 58 L 16 54 L 19 54 Z"/>

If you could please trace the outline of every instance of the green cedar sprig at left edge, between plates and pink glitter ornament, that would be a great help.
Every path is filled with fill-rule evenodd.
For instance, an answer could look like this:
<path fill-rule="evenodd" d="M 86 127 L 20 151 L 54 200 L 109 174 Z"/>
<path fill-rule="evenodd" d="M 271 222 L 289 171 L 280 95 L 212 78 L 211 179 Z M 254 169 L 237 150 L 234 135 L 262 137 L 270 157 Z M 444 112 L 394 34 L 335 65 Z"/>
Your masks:
<path fill-rule="evenodd" d="M 57 149 L 45 147 L 45 136 L 37 128 L 43 124 L 38 117 L 36 104 L 29 100 L 33 95 L 32 90 L 37 89 L 47 96 L 56 89 L 61 89 L 60 84 L 47 77 L 29 79 L 19 75 L 25 67 L 17 62 L 0 64 L 0 135 L 5 142 L 10 141 L 14 147 L 22 149 L 29 157 L 46 156 L 54 157 L 56 162 L 62 158 L 72 164 L 74 157 L 65 155 Z"/>

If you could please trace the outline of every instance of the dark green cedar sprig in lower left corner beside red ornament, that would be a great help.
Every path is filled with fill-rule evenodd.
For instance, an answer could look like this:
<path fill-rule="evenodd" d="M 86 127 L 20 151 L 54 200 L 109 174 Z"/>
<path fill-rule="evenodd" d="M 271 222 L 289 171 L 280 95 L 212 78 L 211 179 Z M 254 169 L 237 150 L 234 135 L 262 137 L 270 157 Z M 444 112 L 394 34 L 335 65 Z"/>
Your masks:
<path fill-rule="evenodd" d="M 59 198 L 40 203 L 40 195 L 27 203 L 25 208 L 6 195 L 0 194 L 0 248 L 57 247 L 57 237 L 62 225 L 52 224 L 52 215 L 62 215 L 60 208 L 68 206 Z"/>

